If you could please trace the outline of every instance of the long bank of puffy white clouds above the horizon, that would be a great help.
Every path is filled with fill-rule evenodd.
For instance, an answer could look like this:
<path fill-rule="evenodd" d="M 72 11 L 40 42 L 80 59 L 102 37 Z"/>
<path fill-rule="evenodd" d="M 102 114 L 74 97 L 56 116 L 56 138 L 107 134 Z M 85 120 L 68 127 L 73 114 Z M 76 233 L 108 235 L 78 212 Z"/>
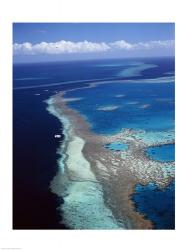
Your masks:
<path fill-rule="evenodd" d="M 149 41 L 139 43 L 129 43 L 125 40 L 114 41 L 111 43 L 95 43 L 95 42 L 71 42 L 61 40 L 58 42 L 47 43 L 41 42 L 32 44 L 29 42 L 25 43 L 14 43 L 13 50 L 14 54 L 70 54 L 70 53 L 93 53 L 93 52 L 106 52 L 114 50 L 151 50 L 156 48 L 172 49 L 174 48 L 174 40 L 165 41 Z"/>

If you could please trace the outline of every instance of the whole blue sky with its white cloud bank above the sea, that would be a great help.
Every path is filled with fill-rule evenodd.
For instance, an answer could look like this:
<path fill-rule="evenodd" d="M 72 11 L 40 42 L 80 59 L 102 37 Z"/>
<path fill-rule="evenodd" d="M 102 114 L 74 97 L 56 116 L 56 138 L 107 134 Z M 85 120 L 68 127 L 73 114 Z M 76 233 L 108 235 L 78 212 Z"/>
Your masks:
<path fill-rule="evenodd" d="M 14 23 L 14 63 L 174 55 L 173 23 Z"/>

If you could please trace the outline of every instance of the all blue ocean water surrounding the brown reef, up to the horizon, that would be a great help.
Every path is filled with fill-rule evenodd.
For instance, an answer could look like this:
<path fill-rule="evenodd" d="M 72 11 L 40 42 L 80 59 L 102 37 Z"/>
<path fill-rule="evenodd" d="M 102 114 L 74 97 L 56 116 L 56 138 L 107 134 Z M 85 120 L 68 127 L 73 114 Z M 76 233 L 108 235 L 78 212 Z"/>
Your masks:
<path fill-rule="evenodd" d="M 78 227 L 77 218 L 68 224 L 66 216 L 72 214 L 66 211 L 69 208 L 63 195 L 51 192 L 51 182 L 59 171 L 58 160 L 63 153 L 59 152 L 59 148 L 64 141 L 64 126 L 47 111 L 46 100 L 64 91 L 67 106 L 81 114 L 93 133 L 115 136 L 124 129 L 130 129 L 135 133 L 134 138 L 140 139 L 147 148 L 159 146 L 161 149 L 162 144 L 171 145 L 174 141 L 174 71 L 174 58 L 15 64 L 13 228 Z M 56 134 L 62 137 L 55 138 Z M 170 157 L 173 162 L 174 150 L 167 146 L 166 149 L 166 153 L 172 150 Z M 123 147 L 120 150 L 123 151 Z M 154 158 L 154 150 L 150 150 L 149 157 L 156 164 L 158 159 Z M 110 148 L 108 151 L 112 152 Z M 157 151 L 160 162 L 169 164 L 170 159 L 165 153 L 166 157 L 163 157 L 163 150 Z M 172 168 L 168 166 L 167 174 Z M 156 186 L 150 191 L 151 185 Z M 154 195 L 155 199 L 152 198 Z M 174 228 L 173 182 L 162 188 L 151 182 L 146 185 L 137 182 L 132 200 L 134 210 L 148 218 L 154 228 Z M 166 200 L 164 213 L 158 206 L 158 200 L 160 204 Z M 86 201 L 83 205 L 86 208 Z M 91 218 L 89 223 L 93 223 Z M 81 227 L 84 229 L 89 223 L 86 226 L 83 223 Z M 105 221 L 103 225 L 108 229 L 110 223 Z"/>

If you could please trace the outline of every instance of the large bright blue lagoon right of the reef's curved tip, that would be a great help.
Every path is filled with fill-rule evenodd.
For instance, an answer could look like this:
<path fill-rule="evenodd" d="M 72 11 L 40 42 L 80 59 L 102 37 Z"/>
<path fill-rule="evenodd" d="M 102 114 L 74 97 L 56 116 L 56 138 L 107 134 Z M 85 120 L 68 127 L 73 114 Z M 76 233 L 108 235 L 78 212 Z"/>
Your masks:
<path fill-rule="evenodd" d="M 124 97 L 117 98 L 119 94 Z M 65 97 L 83 98 L 69 106 L 82 113 L 96 133 L 113 134 L 122 128 L 160 131 L 174 127 L 174 83 L 119 81 L 68 92 Z M 108 106 L 118 108 L 100 110 Z"/>

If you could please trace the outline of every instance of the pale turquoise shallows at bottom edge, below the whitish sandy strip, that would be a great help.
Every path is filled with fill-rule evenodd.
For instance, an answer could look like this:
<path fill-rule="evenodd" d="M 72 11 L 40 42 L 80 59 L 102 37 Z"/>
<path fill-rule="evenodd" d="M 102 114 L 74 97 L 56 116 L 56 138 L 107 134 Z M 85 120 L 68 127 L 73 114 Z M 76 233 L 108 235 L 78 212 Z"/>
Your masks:
<path fill-rule="evenodd" d="M 100 185 L 74 182 L 62 205 L 64 222 L 73 229 L 123 229 L 104 205 Z"/>

